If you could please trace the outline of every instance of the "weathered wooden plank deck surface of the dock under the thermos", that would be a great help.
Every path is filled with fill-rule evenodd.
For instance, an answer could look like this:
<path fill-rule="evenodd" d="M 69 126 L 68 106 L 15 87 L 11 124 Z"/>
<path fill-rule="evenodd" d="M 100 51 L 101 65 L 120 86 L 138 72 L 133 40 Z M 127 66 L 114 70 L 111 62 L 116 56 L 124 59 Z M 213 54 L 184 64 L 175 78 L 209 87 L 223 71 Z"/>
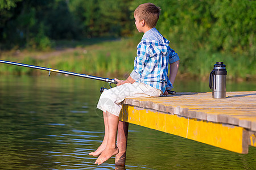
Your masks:
<path fill-rule="evenodd" d="M 256 131 L 256 122 L 249 118 L 256 117 L 255 91 L 227 92 L 226 99 L 213 99 L 211 92 L 185 92 L 176 96 L 129 99 L 124 103 Z"/>

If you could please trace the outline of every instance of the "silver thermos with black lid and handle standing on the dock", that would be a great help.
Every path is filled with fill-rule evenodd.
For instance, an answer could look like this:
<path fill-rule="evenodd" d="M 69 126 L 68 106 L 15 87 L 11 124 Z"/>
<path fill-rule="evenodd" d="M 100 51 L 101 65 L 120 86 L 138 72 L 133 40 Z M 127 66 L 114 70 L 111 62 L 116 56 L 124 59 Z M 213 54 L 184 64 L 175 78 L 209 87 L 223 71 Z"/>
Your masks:
<path fill-rule="evenodd" d="M 212 89 L 212 97 L 215 99 L 226 98 L 226 65 L 216 62 L 210 72 L 209 86 Z"/>

